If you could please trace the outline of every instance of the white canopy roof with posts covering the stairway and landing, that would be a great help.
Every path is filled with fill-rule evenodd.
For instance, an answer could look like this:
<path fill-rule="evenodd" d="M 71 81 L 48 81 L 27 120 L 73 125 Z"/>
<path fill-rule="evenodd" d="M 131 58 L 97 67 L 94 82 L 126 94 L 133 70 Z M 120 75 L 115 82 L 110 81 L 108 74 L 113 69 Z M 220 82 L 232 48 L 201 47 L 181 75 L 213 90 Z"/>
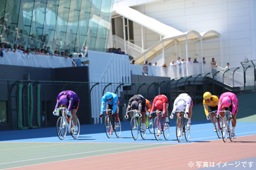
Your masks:
<path fill-rule="evenodd" d="M 177 44 L 186 44 L 186 57 L 188 61 L 188 43 L 189 41 L 194 41 L 201 44 L 201 49 L 203 49 L 203 42 L 209 41 L 212 39 L 220 39 L 220 57 L 221 57 L 221 65 L 222 65 L 222 45 L 221 45 L 221 35 L 219 32 L 210 30 L 206 32 L 197 32 L 195 30 L 191 30 L 188 32 L 181 32 L 169 25 L 166 25 L 162 22 L 157 21 L 156 19 L 150 18 L 132 8 L 126 7 L 118 7 L 114 10 L 114 13 L 123 16 L 123 29 L 124 18 L 129 19 L 133 22 L 136 22 L 141 25 L 141 42 L 143 53 L 134 58 L 137 64 L 143 64 L 146 60 L 152 60 L 157 57 L 159 54 L 163 54 L 163 61 L 165 60 L 164 50 L 175 45 L 175 53 L 177 53 Z M 113 14 L 115 17 L 115 14 Z M 152 30 L 160 35 L 160 41 L 158 41 L 155 45 L 150 48 L 144 50 L 143 47 L 143 27 Z M 163 36 L 163 38 L 162 38 Z M 125 29 L 124 29 L 124 42 L 125 42 Z M 198 45 L 197 45 L 198 51 Z M 201 57 L 203 58 L 203 50 L 201 50 Z"/>

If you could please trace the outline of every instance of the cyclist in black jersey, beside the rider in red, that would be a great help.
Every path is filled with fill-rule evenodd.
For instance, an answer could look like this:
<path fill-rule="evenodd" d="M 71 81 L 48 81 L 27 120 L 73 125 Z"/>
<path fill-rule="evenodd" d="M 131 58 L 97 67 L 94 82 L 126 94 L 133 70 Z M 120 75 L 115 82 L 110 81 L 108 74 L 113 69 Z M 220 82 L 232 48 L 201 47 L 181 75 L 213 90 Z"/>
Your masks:
<path fill-rule="evenodd" d="M 146 99 L 142 95 L 134 95 L 129 99 L 126 112 L 130 110 L 138 110 L 141 116 L 143 133 L 146 132 Z M 130 112 L 130 116 L 133 117 L 133 112 Z"/>

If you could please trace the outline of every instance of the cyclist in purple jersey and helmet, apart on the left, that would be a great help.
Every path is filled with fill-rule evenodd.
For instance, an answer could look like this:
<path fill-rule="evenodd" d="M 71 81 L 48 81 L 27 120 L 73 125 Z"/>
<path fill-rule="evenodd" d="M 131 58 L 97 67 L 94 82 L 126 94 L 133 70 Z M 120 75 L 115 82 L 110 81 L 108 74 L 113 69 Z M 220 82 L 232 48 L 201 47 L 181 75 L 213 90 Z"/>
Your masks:
<path fill-rule="evenodd" d="M 68 112 L 67 112 L 68 116 L 70 116 L 70 112 L 71 112 L 71 115 L 73 117 L 73 122 L 75 124 L 74 128 L 75 128 L 75 131 L 77 132 L 76 112 L 77 112 L 77 109 L 79 106 L 79 98 L 78 98 L 77 94 L 71 90 L 61 91 L 59 93 L 59 95 L 57 96 L 57 104 L 53 111 L 53 115 L 56 115 L 56 109 L 59 108 L 59 106 L 68 108 Z"/>

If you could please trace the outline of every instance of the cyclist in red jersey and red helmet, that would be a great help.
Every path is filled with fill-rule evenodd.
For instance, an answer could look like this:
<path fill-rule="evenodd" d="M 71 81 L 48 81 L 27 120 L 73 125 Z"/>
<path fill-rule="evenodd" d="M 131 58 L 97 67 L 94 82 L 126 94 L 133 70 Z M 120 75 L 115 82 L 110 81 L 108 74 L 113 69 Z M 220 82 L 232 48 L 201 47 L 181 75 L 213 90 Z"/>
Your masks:
<path fill-rule="evenodd" d="M 154 98 L 153 100 L 153 104 L 152 104 L 152 108 L 151 108 L 151 112 L 150 115 L 148 116 L 149 118 L 152 118 L 152 112 L 155 111 L 155 108 L 157 111 L 162 111 L 163 114 L 165 114 L 165 122 L 169 123 L 169 119 L 168 119 L 168 98 L 165 95 L 158 95 Z M 157 113 L 158 114 L 158 113 Z M 157 134 L 161 133 L 160 129 L 158 129 Z"/>

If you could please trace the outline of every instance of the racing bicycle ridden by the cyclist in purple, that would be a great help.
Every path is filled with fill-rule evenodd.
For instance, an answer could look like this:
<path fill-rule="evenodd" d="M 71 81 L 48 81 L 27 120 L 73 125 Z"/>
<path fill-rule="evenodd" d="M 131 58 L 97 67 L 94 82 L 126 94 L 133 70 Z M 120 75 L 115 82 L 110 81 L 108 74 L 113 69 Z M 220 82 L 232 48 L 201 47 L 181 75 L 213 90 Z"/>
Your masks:
<path fill-rule="evenodd" d="M 77 139 L 80 133 L 80 123 L 79 123 L 78 117 L 77 117 L 77 130 L 75 131 L 75 124 L 73 121 L 73 117 L 71 114 L 70 116 L 67 115 L 68 109 L 65 107 L 59 107 L 55 109 L 55 111 L 57 116 L 59 116 L 60 113 L 62 114 L 58 118 L 57 125 L 56 125 L 57 134 L 60 140 L 63 140 L 66 137 L 67 132 L 71 133 L 74 139 Z"/>

